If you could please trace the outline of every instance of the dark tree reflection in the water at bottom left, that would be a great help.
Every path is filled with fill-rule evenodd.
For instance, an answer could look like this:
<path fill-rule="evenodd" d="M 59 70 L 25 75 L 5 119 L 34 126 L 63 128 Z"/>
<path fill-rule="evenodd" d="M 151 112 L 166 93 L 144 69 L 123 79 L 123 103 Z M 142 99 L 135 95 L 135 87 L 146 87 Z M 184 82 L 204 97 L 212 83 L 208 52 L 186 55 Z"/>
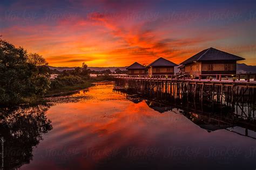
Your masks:
<path fill-rule="evenodd" d="M 45 106 L 0 110 L 3 169 L 16 169 L 32 160 L 33 147 L 52 129 L 46 110 Z"/>

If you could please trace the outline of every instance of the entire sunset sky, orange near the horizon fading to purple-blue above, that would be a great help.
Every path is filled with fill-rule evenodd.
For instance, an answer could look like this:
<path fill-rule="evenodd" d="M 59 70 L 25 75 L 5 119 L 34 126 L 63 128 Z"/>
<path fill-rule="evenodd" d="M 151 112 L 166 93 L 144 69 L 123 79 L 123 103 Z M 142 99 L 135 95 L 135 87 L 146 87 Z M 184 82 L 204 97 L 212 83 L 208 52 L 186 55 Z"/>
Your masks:
<path fill-rule="evenodd" d="M 214 47 L 256 65 L 256 1 L 1 1 L 0 34 L 50 66 L 177 64 Z"/>

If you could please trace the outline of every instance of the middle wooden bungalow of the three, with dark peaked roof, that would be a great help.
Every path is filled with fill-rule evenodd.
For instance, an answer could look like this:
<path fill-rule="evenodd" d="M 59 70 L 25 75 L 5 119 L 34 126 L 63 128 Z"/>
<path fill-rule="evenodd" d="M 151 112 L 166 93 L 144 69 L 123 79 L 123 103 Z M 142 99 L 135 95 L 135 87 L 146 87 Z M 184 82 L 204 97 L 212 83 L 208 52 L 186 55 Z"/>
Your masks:
<path fill-rule="evenodd" d="M 178 65 L 164 58 L 159 58 L 150 63 L 147 68 L 149 75 L 171 75 L 174 74 L 174 66 Z"/>

